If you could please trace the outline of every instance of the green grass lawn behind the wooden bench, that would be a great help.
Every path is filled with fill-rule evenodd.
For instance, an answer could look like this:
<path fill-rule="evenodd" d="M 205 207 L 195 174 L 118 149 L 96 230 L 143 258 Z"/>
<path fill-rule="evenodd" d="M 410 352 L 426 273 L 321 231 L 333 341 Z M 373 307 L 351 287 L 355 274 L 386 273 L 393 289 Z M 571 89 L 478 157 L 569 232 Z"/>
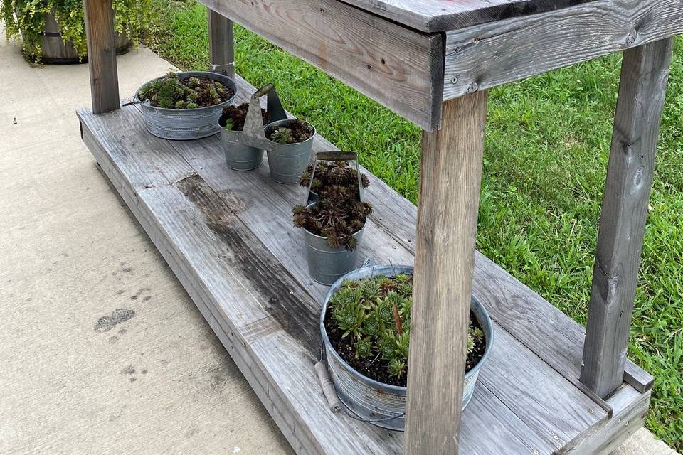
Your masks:
<path fill-rule="evenodd" d="M 154 0 L 147 45 L 206 70 L 206 9 Z M 376 102 L 235 28 L 237 71 L 275 82 L 285 107 L 417 202 L 420 130 Z M 586 323 L 620 55 L 491 90 L 478 249 Z M 655 375 L 657 436 L 683 450 L 683 40 L 676 42 L 629 354 Z"/>

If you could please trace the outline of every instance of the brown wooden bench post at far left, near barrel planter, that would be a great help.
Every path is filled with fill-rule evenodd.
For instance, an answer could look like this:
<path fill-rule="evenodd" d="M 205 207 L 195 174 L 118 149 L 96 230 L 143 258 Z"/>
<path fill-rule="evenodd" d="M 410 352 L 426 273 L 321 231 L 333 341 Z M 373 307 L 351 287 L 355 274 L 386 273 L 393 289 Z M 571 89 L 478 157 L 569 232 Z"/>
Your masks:
<path fill-rule="evenodd" d="M 83 5 L 92 112 L 101 114 L 119 108 L 114 11 L 112 0 L 84 0 Z"/>

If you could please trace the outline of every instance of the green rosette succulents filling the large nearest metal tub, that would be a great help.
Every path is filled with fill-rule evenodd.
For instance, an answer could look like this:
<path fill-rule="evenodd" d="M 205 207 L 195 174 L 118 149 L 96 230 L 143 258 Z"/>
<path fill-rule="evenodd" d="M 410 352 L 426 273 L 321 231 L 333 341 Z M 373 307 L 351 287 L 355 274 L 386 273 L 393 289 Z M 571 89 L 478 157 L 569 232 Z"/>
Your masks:
<path fill-rule="evenodd" d="M 341 338 L 351 338 L 356 360 L 381 359 L 389 377 L 402 379 L 408 365 L 412 308 L 413 276 L 397 274 L 344 281 L 330 298 L 328 311 Z M 482 343 L 484 332 L 470 321 L 468 357 Z"/>

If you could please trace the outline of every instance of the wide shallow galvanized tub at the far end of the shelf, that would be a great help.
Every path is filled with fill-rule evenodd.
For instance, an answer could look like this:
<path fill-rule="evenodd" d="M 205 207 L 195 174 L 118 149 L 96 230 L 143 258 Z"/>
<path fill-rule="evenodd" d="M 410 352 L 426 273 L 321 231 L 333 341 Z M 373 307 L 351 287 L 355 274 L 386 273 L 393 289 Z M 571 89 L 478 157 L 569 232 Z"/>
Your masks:
<path fill-rule="evenodd" d="M 139 99 L 139 92 L 142 90 L 142 87 L 144 87 L 144 85 L 142 85 L 142 87 L 135 92 L 134 101 L 140 103 L 142 119 L 144 120 L 145 127 L 147 127 L 147 131 L 154 134 L 154 136 L 163 139 L 176 139 L 180 141 L 199 139 L 201 137 L 217 134 L 221 131 L 221 127 L 218 125 L 218 119 L 221 117 L 221 114 L 223 114 L 223 107 L 226 107 L 233 102 L 237 96 L 237 84 L 228 76 L 210 73 L 208 71 L 178 73 L 179 79 L 186 79 L 187 77 L 193 76 L 208 77 L 209 79 L 217 80 L 226 87 L 230 87 L 235 92 L 235 95 L 230 100 L 221 102 L 218 105 L 198 107 L 196 109 L 165 109 L 164 107 L 154 107 L 150 105 L 149 101 L 146 100 L 142 102 L 142 100 Z M 157 79 L 161 79 L 162 77 L 157 77 Z"/>

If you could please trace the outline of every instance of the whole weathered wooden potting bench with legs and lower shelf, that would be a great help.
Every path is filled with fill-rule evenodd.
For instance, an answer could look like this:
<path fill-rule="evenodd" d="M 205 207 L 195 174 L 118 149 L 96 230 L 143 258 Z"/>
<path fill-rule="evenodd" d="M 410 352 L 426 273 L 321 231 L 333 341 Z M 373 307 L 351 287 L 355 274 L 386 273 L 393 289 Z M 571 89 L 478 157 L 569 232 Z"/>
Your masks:
<path fill-rule="evenodd" d="M 423 128 L 418 209 L 371 176 L 361 255 L 415 263 L 405 433 L 332 414 L 315 377 L 327 288 L 309 279 L 267 165 L 231 171 L 216 137 L 166 141 L 121 107 L 110 0 L 85 0 L 85 144 L 297 454 L 608 454 L 645 419 L 652 377 L 626 358 L 680 0 L 200 0 L 211 68 L 231 21 Z M 487 89 L 624 52 L 584 329 L 475 252 Z M 239 101 L 253 92 L 236 76 Z M 286 101 L 285 101 L 286 104 Z M 318 137 L 314 149 L 333 149 Z M 460 412 L 474 291 L 496 334 Z M 462 415 L 461 415 L 462 414 Z M 226 416 L 226 419 L 231 418 Z"/>

